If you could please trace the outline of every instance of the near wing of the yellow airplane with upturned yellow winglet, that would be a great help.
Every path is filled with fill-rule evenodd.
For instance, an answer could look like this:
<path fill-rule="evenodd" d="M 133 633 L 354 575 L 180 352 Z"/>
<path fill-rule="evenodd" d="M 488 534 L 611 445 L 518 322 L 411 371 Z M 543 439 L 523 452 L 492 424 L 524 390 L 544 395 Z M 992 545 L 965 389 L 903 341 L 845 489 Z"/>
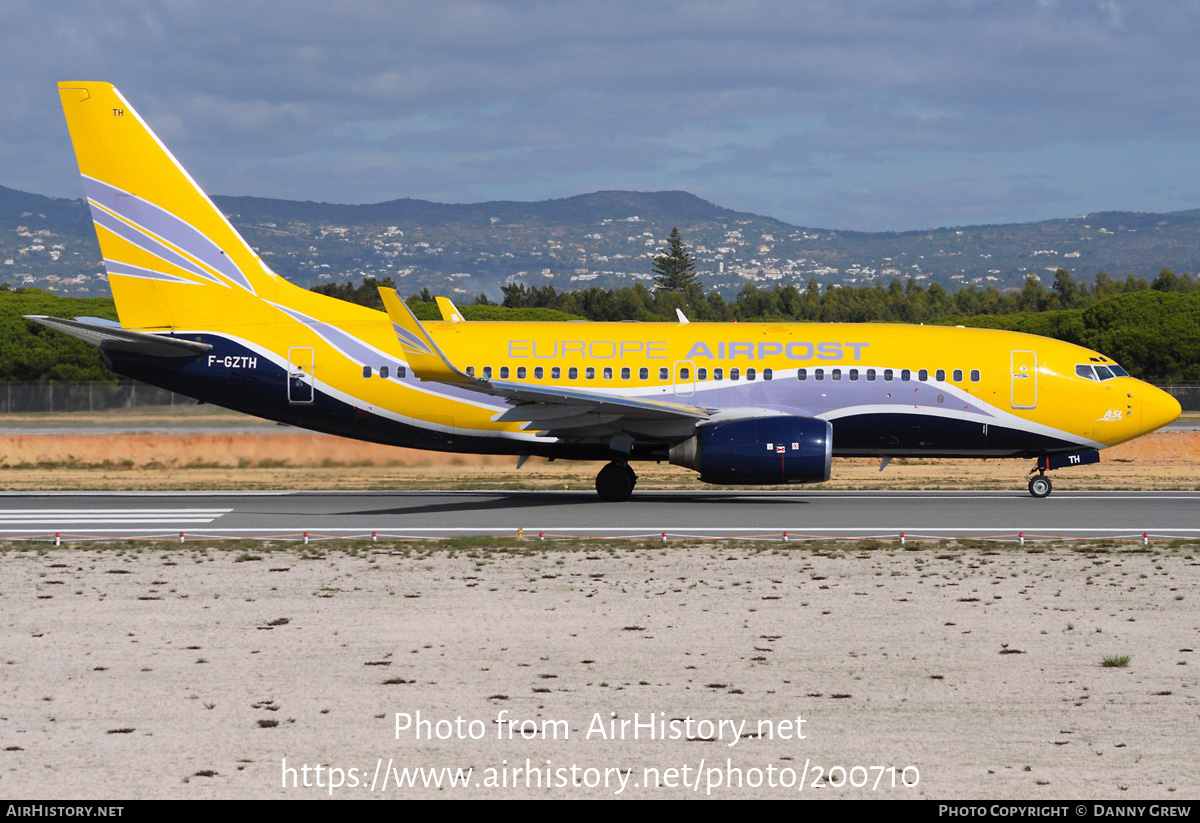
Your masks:
<path fill-rule="evenodd" d="M 696 423 L 715 409 L 624 397 L 584 389 L 540 386 L 511 380 L 472 377 L 450 362 L 437 341 L 394 289 L 379 289 L 413 373 L 422 380 L 463 386 L 516 403 L 492 417 L 496 422 L 522 422 L 540 437 L 672 440 L 689 437 Z"/>

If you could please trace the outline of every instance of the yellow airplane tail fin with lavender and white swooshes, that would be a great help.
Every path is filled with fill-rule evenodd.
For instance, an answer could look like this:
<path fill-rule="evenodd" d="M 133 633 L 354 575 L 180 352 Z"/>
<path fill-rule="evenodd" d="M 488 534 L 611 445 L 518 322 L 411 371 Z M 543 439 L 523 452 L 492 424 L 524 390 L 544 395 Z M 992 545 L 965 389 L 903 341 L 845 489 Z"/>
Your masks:
<path fill-rule="evenodd" d="M 68 82 L 59 96 L 121 325 L 268 320 L 282 281 L 121 94 Z"/>

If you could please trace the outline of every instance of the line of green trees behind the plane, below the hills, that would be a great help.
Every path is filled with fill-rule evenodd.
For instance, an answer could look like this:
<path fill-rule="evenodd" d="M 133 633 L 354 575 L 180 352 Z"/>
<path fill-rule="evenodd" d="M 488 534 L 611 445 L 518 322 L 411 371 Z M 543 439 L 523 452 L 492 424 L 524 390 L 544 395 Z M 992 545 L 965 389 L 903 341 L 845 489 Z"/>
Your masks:
<path fill-rule="evenodd" d="M 689 272 L 690 274 L 690 272 Z M 378 287 L 392 278 L 334 283 L 313 290 L 383 310 Z M 438 319 L 428 289 L 407 300 L 422 320 Z M 940 283 L 892 280 L 887 284 L 805 288 L 748 283 L 736 298 L 704 293 L 690 281 L 680 288 L 650 290 L 643 284 L 620 289 L 560 292 L 553 286 L 503 287 L 503 302 L 486 295 L 463 301 L 469 320 L 643 320 L 674 322 L 676 308 L 697 322 L 785 323 L 926 323 L 1007 329 L 1043 335 L 1102 352 L 1130 374 L 1154 383 L 1200 383 L 1200 283 L 1190 275 L 1163 269 L 1147 282 L 1106 272 L 1091 282 L 1066 269 L 1050 287 L 1028 277 L 1024 288 L 1002 293 L 967 287 L 948 292 Z M 110 299 L 72 299 L 38 289 L 0 287 L 0 382 L 113 380 L 96 348 L 22 318 L 95 316 L 116 318 Z"/>

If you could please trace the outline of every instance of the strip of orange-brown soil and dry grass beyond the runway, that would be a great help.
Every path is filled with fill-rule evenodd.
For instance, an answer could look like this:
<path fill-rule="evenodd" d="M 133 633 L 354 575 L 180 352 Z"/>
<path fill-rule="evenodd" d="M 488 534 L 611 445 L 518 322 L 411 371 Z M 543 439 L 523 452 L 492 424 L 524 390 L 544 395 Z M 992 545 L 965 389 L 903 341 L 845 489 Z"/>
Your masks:
<path fill-rule="evenodd" d="M 244 434 L 0 435 L 0 489 L 590 488 L 596 464 L 444 455 L 286 429 Z M 836 459 L 823 488 L 1020 488 L 1032 461 Z M 1054 473 L 1058 488 L 1200 488 L 1200 432 L 1150 434 Z M 230 468 L 238 469 L 229 471 Z M 638 488 L 700 488 L 637 464 Z"/>

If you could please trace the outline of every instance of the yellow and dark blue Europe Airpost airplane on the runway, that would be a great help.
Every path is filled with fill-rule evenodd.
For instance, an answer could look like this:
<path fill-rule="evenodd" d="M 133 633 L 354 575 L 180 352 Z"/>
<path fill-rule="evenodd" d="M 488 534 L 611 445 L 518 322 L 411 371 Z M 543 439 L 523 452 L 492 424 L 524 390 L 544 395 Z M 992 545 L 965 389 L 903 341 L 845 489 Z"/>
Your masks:
<path fill-rule="evenodd" d="M 59 94 L 120 324 L 32 317 L 120 373 L 320 432 L 437 451 L 636 461 L 713 483 L 829 479 L 833 457 L 1036 458 L 1046 471 L 1175 420 L 1097 352 L 986 329 L 889 324 L 421 323 L 293 286 L 263 262 L 120 92 Z M 882 469 L 882 465 L 881 465 Z"/>

